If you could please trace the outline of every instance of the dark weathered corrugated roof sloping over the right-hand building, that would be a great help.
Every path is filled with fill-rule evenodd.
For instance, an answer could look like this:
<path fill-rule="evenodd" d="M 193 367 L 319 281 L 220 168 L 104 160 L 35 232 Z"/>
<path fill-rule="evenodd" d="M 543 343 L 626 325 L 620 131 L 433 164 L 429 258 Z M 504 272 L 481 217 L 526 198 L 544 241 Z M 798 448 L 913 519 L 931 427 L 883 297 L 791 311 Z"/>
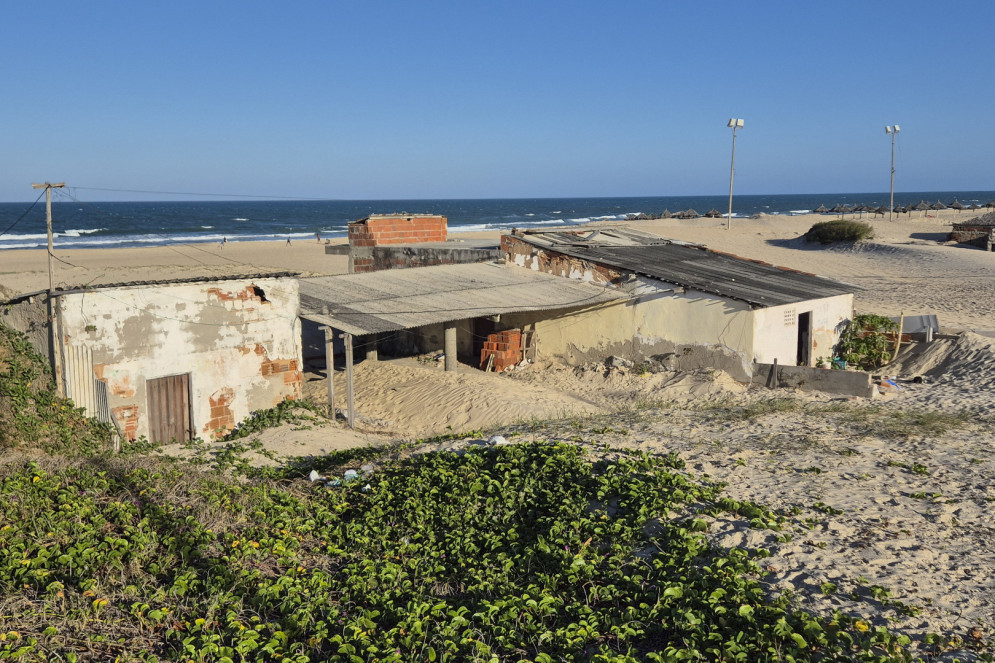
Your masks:
<path fill-rule="evenodd" d="M 643 233 L 601 231 L 593 237 L 578 237 L 572 233 L 536 233 L 519 236 L 519 239 L 565 255 L 738 299 L 758 307 L 795 304 L 857 290 L 855 286 L 814 274 Z"/>

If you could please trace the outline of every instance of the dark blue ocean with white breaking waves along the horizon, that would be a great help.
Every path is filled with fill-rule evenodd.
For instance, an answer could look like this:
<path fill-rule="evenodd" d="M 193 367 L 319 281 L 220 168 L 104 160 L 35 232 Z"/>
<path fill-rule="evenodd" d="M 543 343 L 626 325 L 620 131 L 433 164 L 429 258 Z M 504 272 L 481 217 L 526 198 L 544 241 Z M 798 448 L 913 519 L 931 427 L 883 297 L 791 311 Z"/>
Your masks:
<path fill-rule="evenodd" d="M 58 190 L 56 190 L 58 191 Z M 65 194 L 62 194 L 63 196 Z M 56 196 L 55 198 L 58 198 Z M 825 205 L 888 206 L 889 194 L 742 195 L 733 198 L 733 216 L 802 214 Z M 924 191 L 895 194 L 896 205 L 919 201 L 984 205 L 995 191 Z M 45 204 L 0 203 L 0 250 L 44 248 Z M 507 230 L 621 220 L 635 214 L 660 214 L 693 208 L 699 213 L 729 209 L 726 196 L 653 196 L 627 198 L 507 198 L 473 200 L 327 200 L 327 201 L 175 201 L 84 202 L 53 200 L 52 228 L 57 247 L 107 248 L 193 242 L 311 239 L 315 233 L 343 237 L 346 225 L 370 214 L 442 214 L 449 231 Z M 987 210 L 985 210 L 987 211 Z M 27 213 L 25 213 L 27 212 Z M 970 214 L 965 211 L 965 215 Z M 967 218 L 967 217 L 966 217 Z"/>

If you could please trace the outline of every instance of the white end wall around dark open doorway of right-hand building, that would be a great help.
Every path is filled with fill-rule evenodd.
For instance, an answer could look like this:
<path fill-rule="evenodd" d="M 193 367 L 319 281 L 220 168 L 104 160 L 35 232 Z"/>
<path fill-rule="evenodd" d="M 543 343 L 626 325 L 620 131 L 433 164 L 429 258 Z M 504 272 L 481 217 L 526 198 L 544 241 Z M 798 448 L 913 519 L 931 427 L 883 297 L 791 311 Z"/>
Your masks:
<path fill-rule="evenodd" d="M 814 366 L 819 357 L 832 358 L 843 324 L 853 318 L 853 295 L 837 295 L 755 311 L 754 361 L 770 364 L 777 359 L 781 366 L 794 366 L 798 358 L 798 320 L 802 313 L 811 313 L 808 365 Z"/>

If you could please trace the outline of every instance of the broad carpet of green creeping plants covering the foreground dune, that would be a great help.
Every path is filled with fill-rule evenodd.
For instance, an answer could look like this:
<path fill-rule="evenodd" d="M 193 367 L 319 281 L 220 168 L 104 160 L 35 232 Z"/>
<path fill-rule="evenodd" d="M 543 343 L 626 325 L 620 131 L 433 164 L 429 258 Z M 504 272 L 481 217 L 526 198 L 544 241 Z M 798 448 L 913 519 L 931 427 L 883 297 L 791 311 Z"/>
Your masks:
<path fill-rule="evenodd" d="M 707 515 L 776 517 L 681 467 L 532 443 L 330 488 L 138 457 L 8 462 L 0 660 L 910 659 L 883 627 L 766 598 L 750 553 L 702 532 Z"/>

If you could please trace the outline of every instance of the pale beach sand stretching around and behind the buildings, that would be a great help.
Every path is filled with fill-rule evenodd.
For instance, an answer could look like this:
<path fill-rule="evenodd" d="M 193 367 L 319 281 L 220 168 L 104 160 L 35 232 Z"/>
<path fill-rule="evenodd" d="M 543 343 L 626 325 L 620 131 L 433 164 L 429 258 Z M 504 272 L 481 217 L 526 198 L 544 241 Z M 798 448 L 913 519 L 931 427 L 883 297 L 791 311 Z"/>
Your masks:
<path fill-rule="evenodd" d="M 907 348 L 882 369 L 900 378 L 901 390 L 887 398 L 768 390 L 710 371 L 643 373 L 545 359 L 494 375 L 472 367 L 445 373 L 407 359 L 357 366 L 356 430 L 340 421 L 271 429 L 259 439 L 283 458 L 463 431 L 419 450 L 459 449 L 499 434 L 574 441 L 599 454 L 677 452 L 690 474 L 784 514 L 781 532 L 750 529 L 745 519 L 709 525 L 716 545 L 770 551 L 762 561 L 772 593 L 790 591 L 820 614 L 870 614 L 874 626 L 917 642 L 941 634 L 953 643 L 947 650 L 970 660 L 964 643 L 995 638 L 995 340 L 984 335 L 995 329 L 995 253 L 946 242 L 950 222 L 972 213 L 931 214 L 865 219 L 873 240 L 829 247 L 801 239 L 827 218 L 816 215 L 734 219 L 730 230 L 723 219 L 613 222 L 852 284 L 859 312 L 937 315 L 952 336 Z M 8 294 L 47 287 L 43 251 L 0 255 Z M 313 241 L 56 255 L 69 263 L 56 264 L 59 285 L 346 270 L 344 257 L 326 256 Z M 923 382 L 912 383 L 915 376 Z M 305 389 L 320 403 L 322 376 L 308 375 Z"/>

